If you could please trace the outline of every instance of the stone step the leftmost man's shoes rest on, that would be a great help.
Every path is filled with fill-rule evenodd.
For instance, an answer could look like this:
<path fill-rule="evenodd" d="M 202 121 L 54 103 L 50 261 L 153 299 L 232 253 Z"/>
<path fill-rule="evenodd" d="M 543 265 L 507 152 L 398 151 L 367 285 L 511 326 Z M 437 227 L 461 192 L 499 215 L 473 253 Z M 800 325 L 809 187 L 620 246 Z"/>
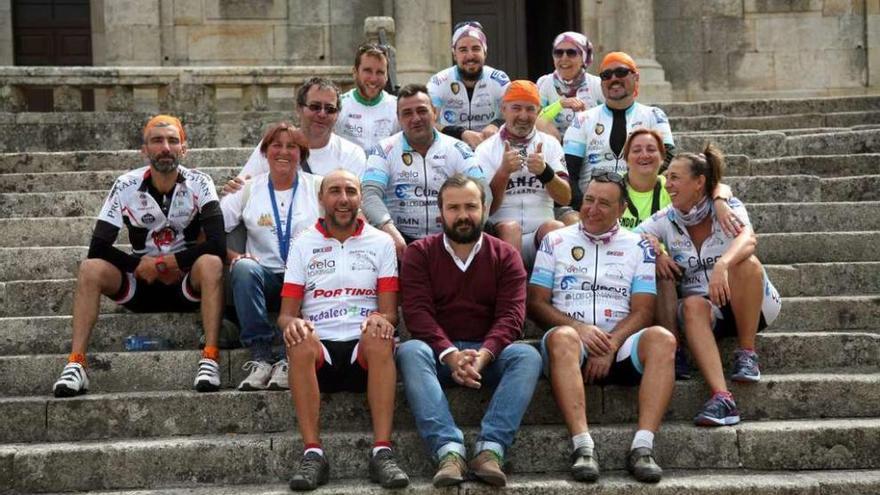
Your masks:
<path fill-rule="evenodd" d="M 765 374 L 757 384 L 733 383 L 745 421 L 876 417 L 880 374 Z M 447 390 L 453 416 L 461 426 L 478 426 L 490 391 Z M 701 380 L 676 382 L 666 421 L 690 421 L 709 395 Z M 586 385 L 591 424 L 631 423 L 638 419 L 638 387 Z M 222 410 L 222 418 L 212 415 Z M 401 385 L 397 387 L 394 426 L 415 428 Z M 296 430 L 289 392 L 213 394 L 158 391 L 87 394 L 72 399 L 47 396 L 0 398 L 0 444 L 74 442 L 164 436 L 274 433 Z M 324 431 L 370 431 L 364 394 L 325 394 Z M 525 425 L 561 425 L 550 383 L 541 380 L 523 419 Z"/>

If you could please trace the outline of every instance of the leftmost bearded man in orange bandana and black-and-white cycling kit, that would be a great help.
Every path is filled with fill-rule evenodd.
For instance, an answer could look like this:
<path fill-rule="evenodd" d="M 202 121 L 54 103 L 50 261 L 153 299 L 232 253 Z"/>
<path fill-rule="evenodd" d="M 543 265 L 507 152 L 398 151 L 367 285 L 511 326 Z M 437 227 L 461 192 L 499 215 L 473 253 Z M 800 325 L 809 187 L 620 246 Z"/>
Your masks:
<path fill-rule="evenodd" d="M 193 386 L 220 387 L 217 338 L 223 304 L 223 214 L 211 178 L 180 166 L 186 132 L 169 115 L 150 119 L 141 153 L 149 164 L 113 184 L 77 276 L 73 342 L 68 363 L 55 382 L 56 397 L 85 393 L 86 350 L 98 318 L 101 295 L 135 312 L 187 312 L 201 307 L 205 348 Z M 132 252 L 113 246 L 128 228 Z M 197 243 L 204 232 L 205 241 Z"/>

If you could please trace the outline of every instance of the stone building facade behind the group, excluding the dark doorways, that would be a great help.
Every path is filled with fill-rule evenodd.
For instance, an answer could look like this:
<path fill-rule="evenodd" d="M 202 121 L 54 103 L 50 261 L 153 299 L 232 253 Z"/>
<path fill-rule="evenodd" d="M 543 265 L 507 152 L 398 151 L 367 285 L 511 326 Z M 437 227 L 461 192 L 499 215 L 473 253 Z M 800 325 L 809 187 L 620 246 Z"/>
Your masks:
<path fill-rule="evenodd" d="M 0 65 L 14 63 L 14 3 L 0 0 Z M 400 82 L 424 82 L 450 64 L 454 3 L 89 0 L 92 60 L 338 68 L 350 66 L 364 19 L 388 16 L 395 20 Z M 643 93 L 655 101 L 880 87 L 880 0 L 580 0 L 579 10 L 600 55 L 624 50 L 636 57 Z"/>

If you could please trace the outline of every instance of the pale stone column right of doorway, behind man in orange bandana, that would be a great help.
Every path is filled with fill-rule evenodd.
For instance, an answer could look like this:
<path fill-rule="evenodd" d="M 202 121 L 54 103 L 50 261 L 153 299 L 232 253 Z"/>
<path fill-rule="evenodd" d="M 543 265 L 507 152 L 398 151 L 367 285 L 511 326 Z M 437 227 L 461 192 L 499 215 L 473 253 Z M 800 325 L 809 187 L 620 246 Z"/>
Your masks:
<path fill-rule="evenodd" d="M 654 0 L 619 0 L 616 20 L 617 49 L 639 66 L 639 100 L 672 101 L 672 85 L 654 51 Z"/>

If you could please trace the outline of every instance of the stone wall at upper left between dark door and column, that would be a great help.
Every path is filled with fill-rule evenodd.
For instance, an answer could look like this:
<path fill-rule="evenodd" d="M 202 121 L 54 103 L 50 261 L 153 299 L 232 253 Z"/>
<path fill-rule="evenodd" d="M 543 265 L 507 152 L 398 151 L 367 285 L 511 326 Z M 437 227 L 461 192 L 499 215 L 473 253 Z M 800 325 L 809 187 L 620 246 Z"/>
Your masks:
<path fill-rule="evenodd" d="M 99 65 L 350 65 L 382 0 L 92 0 Z"/>

